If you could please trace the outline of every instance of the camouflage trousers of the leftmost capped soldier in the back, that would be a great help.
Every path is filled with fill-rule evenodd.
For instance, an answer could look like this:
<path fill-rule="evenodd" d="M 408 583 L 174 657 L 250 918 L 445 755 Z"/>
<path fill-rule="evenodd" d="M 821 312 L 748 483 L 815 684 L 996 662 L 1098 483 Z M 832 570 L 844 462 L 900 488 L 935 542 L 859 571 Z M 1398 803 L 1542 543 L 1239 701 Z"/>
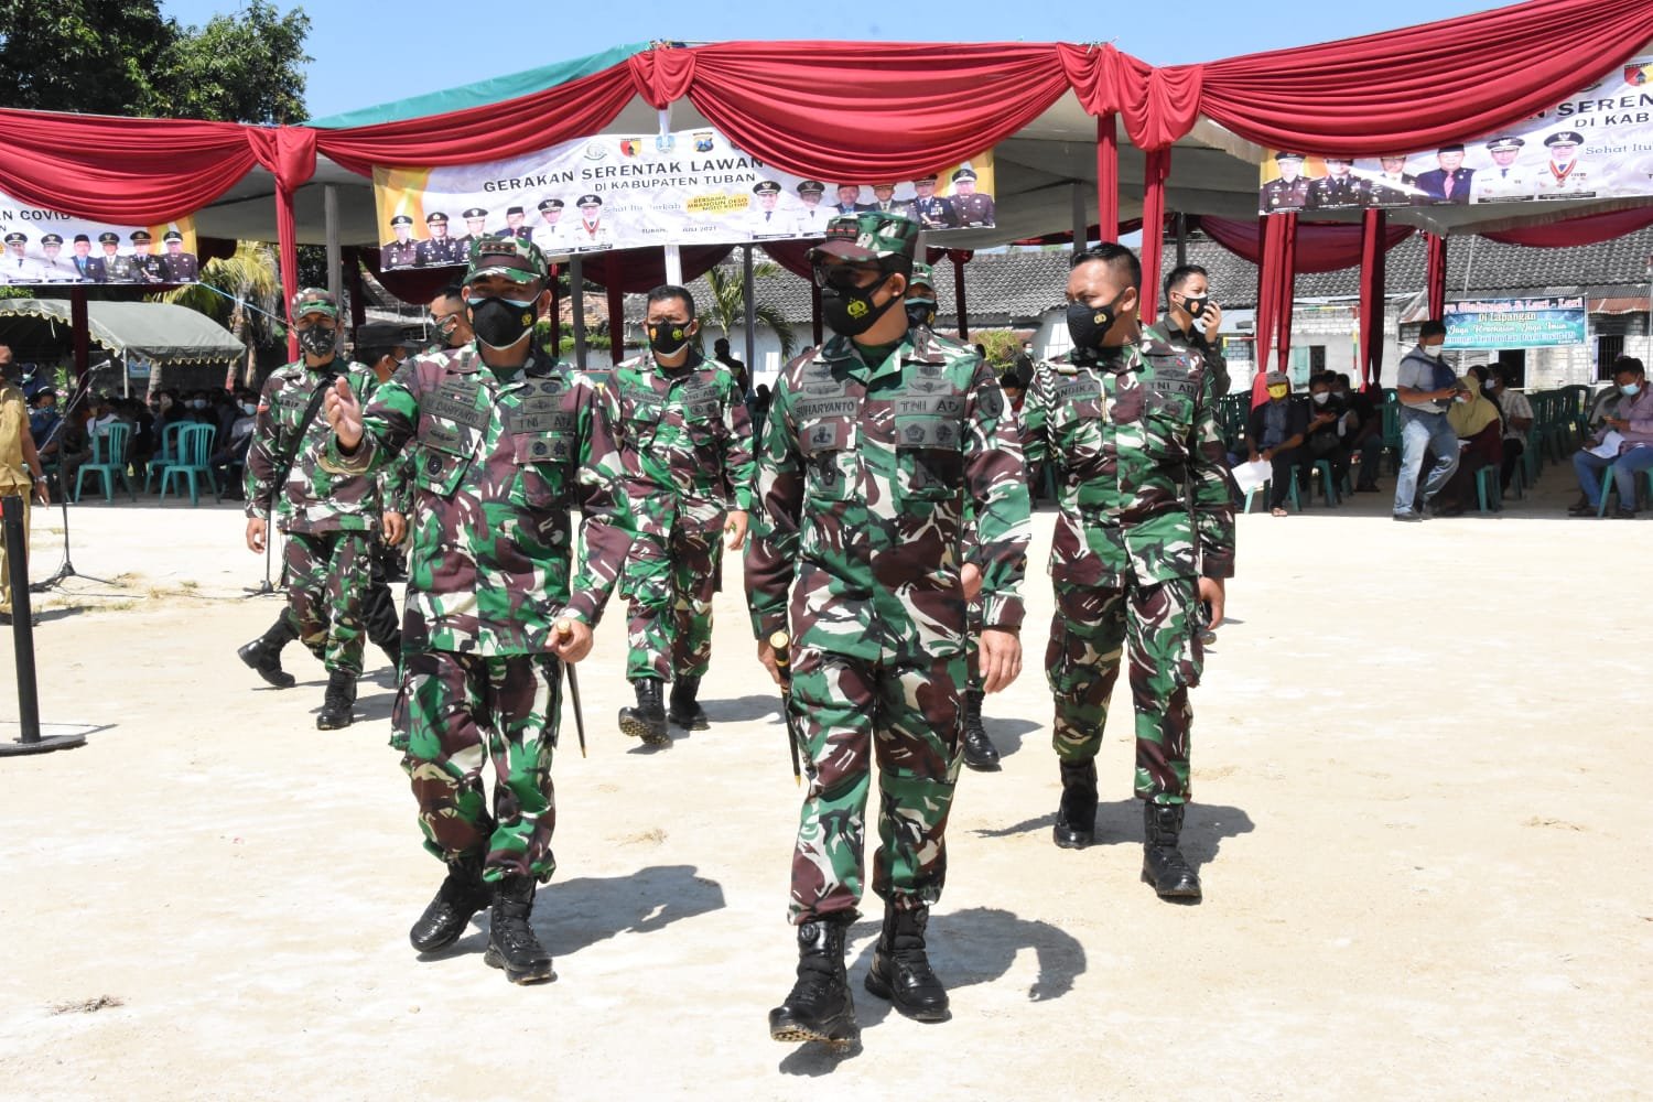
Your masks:
<path fill-rule="evenodd" d="M 362 672 L 372 532 L 288 532 L 283 563 L 299 641 L 331 671 Z"/>

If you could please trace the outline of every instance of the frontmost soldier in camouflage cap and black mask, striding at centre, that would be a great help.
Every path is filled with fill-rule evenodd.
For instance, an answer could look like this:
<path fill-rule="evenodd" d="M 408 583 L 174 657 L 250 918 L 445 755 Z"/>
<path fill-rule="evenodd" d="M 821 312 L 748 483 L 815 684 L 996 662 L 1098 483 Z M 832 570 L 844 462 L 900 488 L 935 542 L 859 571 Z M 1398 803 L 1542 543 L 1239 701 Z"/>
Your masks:
<path fill-rule="evenodd" d="M 782 370 L 759 453 L 747 601 L 772 674 L 769 641 L 790 628 L 790 722 L 813 765 L 792 861 L 798 980 L 770 1011 L 777 1041 L 858 1033 L 843 938 L 861 899 L 874 760 L 884 925 L 866 988 L 914 1018 L 947 1018 L 924 929 L 947 869 L 965 603 L 977 591 L 987 689 L 1022 663 L 1022 448 L 988 367 L 907 329 L 917 235 L 889 213 L 828 223 L 812 261 L 835 335 Z"/>

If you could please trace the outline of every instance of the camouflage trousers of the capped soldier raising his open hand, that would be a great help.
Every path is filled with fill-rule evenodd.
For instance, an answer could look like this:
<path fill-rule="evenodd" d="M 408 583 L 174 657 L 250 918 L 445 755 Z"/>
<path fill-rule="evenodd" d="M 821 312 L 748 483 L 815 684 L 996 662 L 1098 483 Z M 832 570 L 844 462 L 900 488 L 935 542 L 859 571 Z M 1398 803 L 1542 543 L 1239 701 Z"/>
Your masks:
<path fill-rule="evenodd" d="M 446 861 L 484 854 L 483 877 L 549 881 L 557 800 L 550 757 L 562 710 L 552 654 L 402 656 L 390 745 L 413 781 L 425 849 Z M 494 765 L 493 810 L 483 763 Z"/>

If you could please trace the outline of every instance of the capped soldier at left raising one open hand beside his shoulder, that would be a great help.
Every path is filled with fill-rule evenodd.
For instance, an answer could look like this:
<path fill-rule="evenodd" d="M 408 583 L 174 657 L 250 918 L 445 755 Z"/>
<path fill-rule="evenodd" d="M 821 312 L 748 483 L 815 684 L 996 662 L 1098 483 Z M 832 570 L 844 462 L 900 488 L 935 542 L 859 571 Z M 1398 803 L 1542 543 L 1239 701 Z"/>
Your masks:
<path fill-rule="evenodd" d="M 425 848 L 448 876 L 410 940 L 443 948 L 491 902 L 486 963 L 532 983 L 552 978 L 529 914 L 555 869 L 562 663 L 590 653 L 631 542 L 631 501 L 646 491 L 630 481 L 612 401 L 532 347 L 549 301 L 539 248 L 481 238 L 464 299 L 474 344 L 410 359 L 365 411 L 349 390 L 329 393 L 334 439 L 321 463 L 365 474 L 417 448 L 390 745 L 403 753 Z M 575 506 L 585 555 L 570 582 Z"/>

